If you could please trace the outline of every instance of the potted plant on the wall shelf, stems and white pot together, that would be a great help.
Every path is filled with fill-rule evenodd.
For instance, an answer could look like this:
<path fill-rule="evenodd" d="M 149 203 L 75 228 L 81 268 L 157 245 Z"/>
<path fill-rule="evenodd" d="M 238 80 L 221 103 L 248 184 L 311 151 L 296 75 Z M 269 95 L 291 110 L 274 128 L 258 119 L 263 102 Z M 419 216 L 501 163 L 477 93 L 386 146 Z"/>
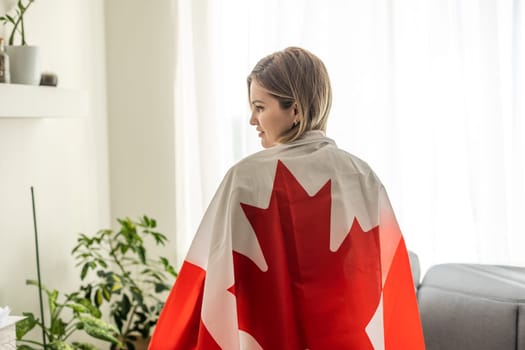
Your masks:
<path fill-rule="evenodd" d="M 39 48 L 30 46 L 26 42 L 26 25 L 24 16 L 35 0 L 17 0 L 0 21 L 4 27 L 10 26 L 7 54 L 10 58 L 11 82 L 18 84 L 36 85 L 40 79 Z M 19 44 L 16 44 L 16 39 Z"/>

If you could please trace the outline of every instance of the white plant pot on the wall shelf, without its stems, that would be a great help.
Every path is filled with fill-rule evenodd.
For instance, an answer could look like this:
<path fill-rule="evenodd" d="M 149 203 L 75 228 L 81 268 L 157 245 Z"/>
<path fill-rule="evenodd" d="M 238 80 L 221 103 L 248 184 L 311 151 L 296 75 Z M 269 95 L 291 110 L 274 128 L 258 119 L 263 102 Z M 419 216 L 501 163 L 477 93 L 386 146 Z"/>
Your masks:
<path fill-rule="evenodd" d="M 11 66 L 11 83 L 38 85 L 40 82 L 40 49 L 37 46 L 7 46 Z"/>

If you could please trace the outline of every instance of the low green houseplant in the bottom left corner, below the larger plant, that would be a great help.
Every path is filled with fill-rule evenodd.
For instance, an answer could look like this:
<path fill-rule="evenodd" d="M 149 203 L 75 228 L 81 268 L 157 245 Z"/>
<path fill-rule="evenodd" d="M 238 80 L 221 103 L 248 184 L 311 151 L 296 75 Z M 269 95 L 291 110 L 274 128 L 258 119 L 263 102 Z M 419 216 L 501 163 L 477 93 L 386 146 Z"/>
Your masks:
<path fill-rule="evenodd" d="M 39 287 L 37 281 L 28 280 L 26 283 Z M 117 334 L 115 327 L 101 320 L 100 311 L 79 292 L 65 294 L 60 298 L 57 290 L 51 291 L 43 285 L 40 288 L 47 295 L 50 324 L 44 325 L 42 320 L 35 318 L 33 313 L 24 312 L 25 318 L 16 324 L 17 349 L 36 349 L 32 347 L 35 345 L 38 348 L 44 348 L 44 344 L 39 341 L 24 339 L 26 334 L 35 327 L 40 327 L 45 333 L 46 350 L 95 350 L 96 347 L 89 343 L 69 342 L 68 338 L 81 330 L 94 338 L 121 344 L 115 337 Z"/>

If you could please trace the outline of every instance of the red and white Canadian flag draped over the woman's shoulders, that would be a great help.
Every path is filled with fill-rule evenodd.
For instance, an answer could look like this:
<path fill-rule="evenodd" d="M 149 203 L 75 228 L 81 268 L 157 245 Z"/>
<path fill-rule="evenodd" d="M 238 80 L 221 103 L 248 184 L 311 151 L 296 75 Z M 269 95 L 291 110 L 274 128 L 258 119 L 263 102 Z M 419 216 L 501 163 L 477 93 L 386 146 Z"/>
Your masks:
<path fill-rule="evenodd" d="M 245 158 L 195 235 L 150 350 L 424 349 L 381 182 L 320 131 Z"/>

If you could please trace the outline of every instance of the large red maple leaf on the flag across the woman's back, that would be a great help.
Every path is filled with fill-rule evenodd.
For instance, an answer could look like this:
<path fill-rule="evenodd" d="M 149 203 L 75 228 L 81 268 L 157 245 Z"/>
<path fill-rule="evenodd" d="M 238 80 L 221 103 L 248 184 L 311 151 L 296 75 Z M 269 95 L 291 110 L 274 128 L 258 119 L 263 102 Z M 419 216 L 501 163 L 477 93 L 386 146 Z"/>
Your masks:
<path fill-rule="evenodd" d="M 344 194 L 340 194 L 344 195 Z M 281 161 L 267 209 L 241 203 L 268 264 L 233 252 L 239 329 L 266 350 L 369 349 L 381 294 L 378 228 L 330 251 L 331 180 L 310 197 Z"/>

